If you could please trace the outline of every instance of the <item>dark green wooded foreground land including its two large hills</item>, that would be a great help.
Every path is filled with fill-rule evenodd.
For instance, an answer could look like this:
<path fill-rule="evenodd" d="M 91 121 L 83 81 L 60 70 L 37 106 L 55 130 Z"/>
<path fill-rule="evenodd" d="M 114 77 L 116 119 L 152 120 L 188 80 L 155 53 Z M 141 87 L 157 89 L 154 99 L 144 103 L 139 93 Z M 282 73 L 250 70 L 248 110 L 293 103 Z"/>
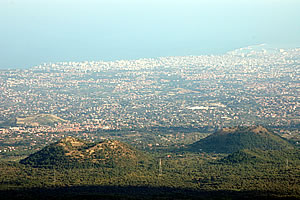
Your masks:
<path fill-rule="evenodd" d="M 20 163 L 0 162 L 0 194 L 40 198 L 36 191 L 42 188 L 52 199 L 107 199 L 108 194 L 108 199 L 300 198 L 300 150 L 286 140 L 263 127 L 223 129 L 203 140 L 210 137 L 219 142 L 208 146 L 211 152 L 228 144 L 226 152 L 237 151 L 149 155 L 116 140 L 66 137 Z M 240 138 L 248 141 L 238 143 Z"/>

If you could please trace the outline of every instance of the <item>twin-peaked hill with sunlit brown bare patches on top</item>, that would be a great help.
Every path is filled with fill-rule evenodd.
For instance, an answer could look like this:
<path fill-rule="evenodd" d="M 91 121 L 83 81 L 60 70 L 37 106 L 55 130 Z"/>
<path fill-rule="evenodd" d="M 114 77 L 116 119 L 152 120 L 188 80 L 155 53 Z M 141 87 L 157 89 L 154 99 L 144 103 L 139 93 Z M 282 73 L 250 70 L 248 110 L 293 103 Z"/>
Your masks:
<path fill-rule="evenodd" d="M 128 144 L 116 140 L 88 143 L 66 137 L 21 160 L 36 167 L 136 167 L 151 158 Z"/>

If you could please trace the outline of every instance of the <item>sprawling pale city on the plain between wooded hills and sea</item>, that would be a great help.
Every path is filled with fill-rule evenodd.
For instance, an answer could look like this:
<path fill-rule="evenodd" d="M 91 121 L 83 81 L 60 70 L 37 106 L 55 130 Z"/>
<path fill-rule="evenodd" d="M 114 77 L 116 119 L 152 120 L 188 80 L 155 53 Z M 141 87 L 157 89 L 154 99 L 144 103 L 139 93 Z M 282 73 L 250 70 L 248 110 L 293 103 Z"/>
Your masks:
<path fill-rule="evenodd" d="M 147 147 L 185 137 L 181 130 L 209 133 L 237 125 L 280 127 L 299 137 L 299 66 L 300 48 L 257 45 L 223 55 L 0 70 L 0 122 L 38 114 L 64 120 L 3 126 L 0 150 L 15 151 L 20 141 L 34 149 L 41 138 L 50 142 L 69 133 L 93 139 L 109 137 L 109 131 L 137 136 L 163 128 L 181 135 L 159 135 Z"/>

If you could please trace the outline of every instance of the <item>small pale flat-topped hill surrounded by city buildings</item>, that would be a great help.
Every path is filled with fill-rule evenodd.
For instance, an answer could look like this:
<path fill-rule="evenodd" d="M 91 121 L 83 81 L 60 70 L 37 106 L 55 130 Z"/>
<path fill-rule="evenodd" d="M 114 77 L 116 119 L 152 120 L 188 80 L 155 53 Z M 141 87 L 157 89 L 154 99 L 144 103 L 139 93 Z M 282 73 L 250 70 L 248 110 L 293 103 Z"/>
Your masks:
<path fill-rule="evenodd" d="M 17 118 L 17 125 L 29 125 L 29 126 L 39 126 L 48 125 L 52 126 L 57 123 L 65 123 L 66 120 L 59 118 L 51 114 L 37 114 L 25 118 Z"/>

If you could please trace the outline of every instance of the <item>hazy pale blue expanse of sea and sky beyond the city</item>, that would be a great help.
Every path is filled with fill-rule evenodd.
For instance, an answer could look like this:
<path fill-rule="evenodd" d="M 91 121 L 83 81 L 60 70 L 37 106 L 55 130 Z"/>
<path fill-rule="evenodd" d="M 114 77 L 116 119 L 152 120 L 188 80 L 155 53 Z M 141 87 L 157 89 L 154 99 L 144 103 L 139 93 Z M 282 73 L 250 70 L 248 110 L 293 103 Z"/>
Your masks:
<path fill-rule="evenodd" d="M 299 0 L 0 0 L 0 68 L 300 47 Z"/>

